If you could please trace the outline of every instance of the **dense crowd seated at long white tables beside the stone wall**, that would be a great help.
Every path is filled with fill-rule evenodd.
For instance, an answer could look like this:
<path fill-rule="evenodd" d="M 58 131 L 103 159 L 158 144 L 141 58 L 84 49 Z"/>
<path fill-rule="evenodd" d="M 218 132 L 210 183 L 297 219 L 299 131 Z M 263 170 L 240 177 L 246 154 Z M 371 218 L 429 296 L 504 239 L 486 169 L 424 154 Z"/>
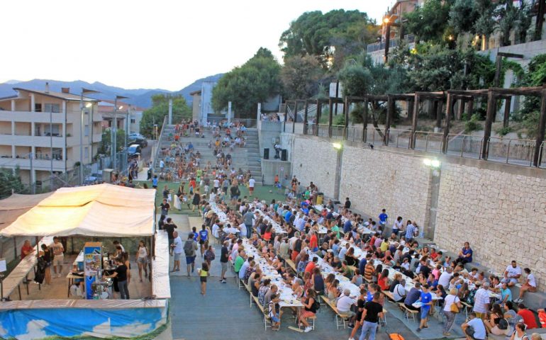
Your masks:
<path fill-rule="evenodd" d="M 306 319 L 316 312 L 306 301 L 316 299 L 316 295 L 334 300 L 338 311 L 345 312 L 354 327 L 350 340 L 359 327 L 360 339 L 374 339 L 386 299 L 418 310 L 417 331 L 428 328 L 430 315 L 439 310 L 438 314 L 444 314 L 446 319 L 443 335 L 450 336 L 455 316 L 464 307 L 462 302 L 473 306 L 475 314 L 461 326 L 468 339 L 485 339 L 474 325 L 478 322 L 484 325 L 486 334 L 517 335 L 518 329 L 537 328 L 533 312 L 521 300 L 513 300 L 509 289 L 523 283 L 527 288 L 520 290 L 520 298 L 525 291 L 535 291 L 530 268 L 524 270 L 525 281 L 520 280 L 523 274 L 515 261 L 502 278 L 487 276 L 477 268 L 467 270 L 464 265 L 472 263 L 473 256 L 468 242 L 452 258 L 433 246 L 419 244 L 419 229 L 411 220 L 403 222 L 403 217 L 397 217 L 391 224 L 385 209 L 379 212 L 377 220 L 364 220 L 351 210 L 349 198 L 339 205 L 331 201 L 316 205 L 318 188 L 313 183 L 302 190 L 294 177 L 291 186 L 294 187 L 287 191 L 291 195 L 283 203 L 239 195 L 228 197 L 229 190 L 222 189 L 201 202 L 200 208 L 204 227 L 223 245 L 221 261 L 225 265 L 221 281 L 225 282 L 227 263 L 232 261 L 252 294 L 267 294 L 269 298 L 262 300 L 264 307 L 269 306 L 277 288 L 263 278 L 252 256 L 245 254 L 243 239 L 248 239 L 303 302 L 299 322 L 305 331 L 311 331 Z M 357 285 L 360 295 L 350 296 L 333 274 L 323 276 L 318 257 Z M 294 263 L 294 271 L 286 261 Z M 411 289 L 406 290 L 408 286 Z M 275 308 L 274 304 L 270 308 L 274 323 L 278 314 Z M 539 310 L 538 317 L 546 322 L 544 310 Z"/>

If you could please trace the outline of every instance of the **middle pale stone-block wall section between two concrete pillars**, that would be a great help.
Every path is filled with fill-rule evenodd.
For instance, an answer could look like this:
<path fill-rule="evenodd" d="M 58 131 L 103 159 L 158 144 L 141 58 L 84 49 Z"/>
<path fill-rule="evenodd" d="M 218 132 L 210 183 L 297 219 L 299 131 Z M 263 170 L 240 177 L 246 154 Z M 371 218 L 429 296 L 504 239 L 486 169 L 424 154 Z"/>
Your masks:
<path fill-rule="evenodd" d="M 428 227 L 430 168 L 421 157 L 345 145 L 340 200 L 378 219 L 386 209 L 389 224 L 401 216 Z"/>

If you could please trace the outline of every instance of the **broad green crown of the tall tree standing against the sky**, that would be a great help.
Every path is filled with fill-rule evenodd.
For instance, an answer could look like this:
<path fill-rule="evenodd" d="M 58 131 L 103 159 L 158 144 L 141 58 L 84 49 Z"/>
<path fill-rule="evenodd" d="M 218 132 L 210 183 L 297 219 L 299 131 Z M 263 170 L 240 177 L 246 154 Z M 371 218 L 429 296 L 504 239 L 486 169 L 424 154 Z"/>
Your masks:
<path fill-rule="evenodd" d="M 284 60 L 313 55 L 321 66 L 338 69 L 349 55 L 357 55 L 377 37 L 377 25 L 360 11 L 333 10 L 303 13 L 279 39 Z M 332 65 L 333 62 L 333 65 Z"/>

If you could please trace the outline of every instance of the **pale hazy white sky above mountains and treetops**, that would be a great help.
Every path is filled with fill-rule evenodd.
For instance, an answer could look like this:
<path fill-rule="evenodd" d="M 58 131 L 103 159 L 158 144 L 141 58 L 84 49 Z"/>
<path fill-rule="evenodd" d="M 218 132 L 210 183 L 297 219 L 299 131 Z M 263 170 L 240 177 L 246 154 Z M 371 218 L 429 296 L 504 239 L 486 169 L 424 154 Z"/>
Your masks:
<path fill-rule="evenodd" d="M 380 20 L 393 0 L 0 1 L 0 82 L 101 81 L 179 90 L 228 72 L 305 11 L 357 9 Z"/>

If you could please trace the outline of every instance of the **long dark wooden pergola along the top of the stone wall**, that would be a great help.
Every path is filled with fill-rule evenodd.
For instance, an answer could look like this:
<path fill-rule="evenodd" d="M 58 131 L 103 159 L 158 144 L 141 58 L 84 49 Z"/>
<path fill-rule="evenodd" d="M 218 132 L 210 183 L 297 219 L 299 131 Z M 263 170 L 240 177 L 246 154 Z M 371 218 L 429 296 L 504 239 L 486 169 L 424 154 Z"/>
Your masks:
<path fill-rule="evenodd" d="M 297 107 L 299 103 L 305 105 L 305 114 L 303 116 L 304 124 L 304 134 L 307 133 L 307 109 L 309 103 L 316 102 L 317 104 L 317 122 L 321 115 L 321 107 L 325 101 L 328 101 L 330 106 L 329 119 L 328 119 L 328 136 L 332 137 L 332 125 L 333 125 L 333 106 L 335 103 L 344 103 L 343 114 L 345 115 L 345 132 L 343 135 L 344 139 L 347 139 L 347 128 L 349 126 L 349 106 L 351 103 L 364 103 L 364 111 L 362 112 L 362 122 L 364 133 L 362 133 L 362 142 L 366 142 L 366 128 L 369 121 L 368 116 L 368 104 L 370 102 L 386 102 L 387 103 L 387 114 L 386 122 L 384 128 L 384 145 L 389 144 L 389 130 L 391 128 L 391 123 L 394 117 L 394 111 L 396 110 L 396 101 L 406 101 L 407 103 L 413 105 L 408 105 L 408 117 L 411 117 L 411 138 L 409 147 L 410 149 L 415 149 L 416 147 L 416 131 L 418 127 L 418 115 L 419 115 L 419 105 L 422 101 L 433 101 L 433 112 L 435 112 L 436 126 L 438 128 L 442 127 L 442 105 L 445 101 L 446 110 L 445 110 L 445 120 L 443 124 L 443 140 L 447 140 L 448 135 L 450 134 L 450 122 L 452 119 L 461 120 L 462 115 L 464 114 L 465 107 L 467 108 L 467 113 L 472 115 L 474 111 L 474 101 L 477 101 L 479 98 L 486 98 L 487 101 L 487 114 L 486 121 L 484 126 L 484 143 L 481 145 L 481 159 L 487 159 L 488 157 L 488 143 L 485 142 L 491 137 L 491 128 L 495 120 L 497 101 L 499 99 L 506 101 L 503 113 L 503 126 L 508 127 L 510 107 L 512 96 L 540 96 L 540 119 L 539 126 L 537 130 L 537 137 L 535 139 L 535 148 L 533 154 L 533 165 L 539 166 L 541 161 L 541 146 L 545 137 L 546 130 L 546 84 L 544 86 L 536 87 L 519 87 L 513 89 L 503 89 L 498 87 L 492 87 L 489 89 L 479 89 L 479 90 L 447 90 L 442 92 L 416 92 L 414 94 L 366 94 L 364 96 L 345 96 L 345 100 L 342 98 L 329 98 L 327 99 L 318 99 L 318 100 L 296 100 L 296 101 L 286 101 L 286 104 L 294 103 Z M 454 107 L 456 103 L 459 103 L 457 112 L 454 113 Z M 440 105 L 441 104 L 441 105 Z M 466 104 L 466 105 L 465 105 Z M 286 115 L 286 113 L 285 113 Z M 297 114 L 294 114 L 294 123 L 296 123 Z M 292 128 L 294 132 L 294 125 Z M 316 129 L 314 135 L 317 135 L 318 129 Z M 442 144 L 442 152 L 447 153 L 447 143 Z"/>

